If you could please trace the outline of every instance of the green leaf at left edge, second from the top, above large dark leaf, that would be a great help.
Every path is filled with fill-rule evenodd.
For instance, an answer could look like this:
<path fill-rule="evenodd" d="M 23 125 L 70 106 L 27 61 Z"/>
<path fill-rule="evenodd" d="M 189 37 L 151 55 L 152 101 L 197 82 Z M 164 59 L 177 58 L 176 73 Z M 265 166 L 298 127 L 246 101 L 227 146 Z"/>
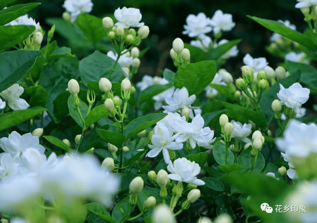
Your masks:
<path fill-rule="evenodd" d="M 0 26 L 0 50 L 22 43 L 22 41 L 28 38 L 34 30 L 35 26 Z"/>

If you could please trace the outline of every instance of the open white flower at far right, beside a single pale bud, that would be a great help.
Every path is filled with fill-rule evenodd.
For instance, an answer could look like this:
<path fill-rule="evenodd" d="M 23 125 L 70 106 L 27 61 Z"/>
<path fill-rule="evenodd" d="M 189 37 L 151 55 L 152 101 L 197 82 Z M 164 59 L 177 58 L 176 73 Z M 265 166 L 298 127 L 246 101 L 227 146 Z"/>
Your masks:
<path fill-rule="evenodd" d="M 301 105 L 307 102 L 310 90 L 303 88 L 300 83 L 294 83 L 289 88 L 284 88 L 280 84 L 281 90 L 277 97 L 281 100 L 282 105 L 293 108 L 296 113 L 300 113 Z"/>

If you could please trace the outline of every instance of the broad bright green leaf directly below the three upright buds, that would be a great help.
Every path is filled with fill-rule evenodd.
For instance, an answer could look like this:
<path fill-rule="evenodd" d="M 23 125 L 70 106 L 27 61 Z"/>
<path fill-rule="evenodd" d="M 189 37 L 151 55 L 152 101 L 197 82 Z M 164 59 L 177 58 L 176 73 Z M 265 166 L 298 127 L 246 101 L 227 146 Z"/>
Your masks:
<path fill-rule="evenodd" d="M 200 61 L 180 67 L 175 73 L 174 85 L 181 89 L 186 87 L 189 95 L 198 96 L 217 73 L 215 61 Z"/>

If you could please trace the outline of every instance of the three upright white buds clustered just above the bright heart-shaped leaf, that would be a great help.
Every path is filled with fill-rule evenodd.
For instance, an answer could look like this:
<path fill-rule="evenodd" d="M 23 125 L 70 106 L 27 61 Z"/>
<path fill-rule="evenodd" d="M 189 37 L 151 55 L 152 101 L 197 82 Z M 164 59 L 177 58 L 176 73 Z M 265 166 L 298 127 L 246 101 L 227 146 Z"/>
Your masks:
<path fill-rule="evenodd" d="M 176 38 L 172 44 L 173 48 L 170 51 L 171 58 L 177 68 L 187 65 L 191 62 L 191 53 L 187 48 L 184 48 L 184 42 L 181 38 Z"/>

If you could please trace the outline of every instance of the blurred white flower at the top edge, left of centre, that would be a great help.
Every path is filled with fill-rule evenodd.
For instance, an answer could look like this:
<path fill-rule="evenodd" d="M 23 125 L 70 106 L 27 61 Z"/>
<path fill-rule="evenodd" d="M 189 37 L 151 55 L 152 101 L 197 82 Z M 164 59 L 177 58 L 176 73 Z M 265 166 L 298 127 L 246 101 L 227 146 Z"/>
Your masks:
<path fill-rule="evenodd" d="M 65 0 L 63 8 L 66 9 L 71 15 L 71 22 L 75 22 L 77 16 L 81 12 L 91 12 L 94 4 L 91 0 Z"/>

